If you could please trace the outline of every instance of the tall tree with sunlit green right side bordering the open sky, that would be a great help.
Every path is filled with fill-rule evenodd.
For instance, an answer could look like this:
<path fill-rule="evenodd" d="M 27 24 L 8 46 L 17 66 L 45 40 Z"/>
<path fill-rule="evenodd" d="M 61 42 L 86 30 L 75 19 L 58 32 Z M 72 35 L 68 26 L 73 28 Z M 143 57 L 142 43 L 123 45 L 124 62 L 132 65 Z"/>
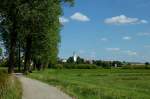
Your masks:
<path fill-rule="evenodd" d="M 35 60 L 35 63 L 40 65 L 37 67 L 56 63 L 60 41 L 59 17 L 62 14 L 62 2 L 70 1 L 35 0 L 27 2 L 28 7 L 25 9 L 28 11 L 23 14 L 25 17 L 27 16 L 26 22 L 29 22 L 25 24 L 27 25 L 25 27 L 29 26 L 26 35 L 25 71 L 28 71 L 31 60 Z"/>

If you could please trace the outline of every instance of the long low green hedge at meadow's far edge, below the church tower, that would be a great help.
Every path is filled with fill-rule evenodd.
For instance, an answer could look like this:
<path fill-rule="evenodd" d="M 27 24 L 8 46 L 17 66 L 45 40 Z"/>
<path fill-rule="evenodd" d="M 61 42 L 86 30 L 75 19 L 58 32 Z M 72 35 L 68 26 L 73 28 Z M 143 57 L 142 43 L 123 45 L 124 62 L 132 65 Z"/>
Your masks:
<path fill-rule="evenodd" d="M 54 69 L 96 69 L 97 66 L 94 64 L 57 64 L 52 66 Z"/>

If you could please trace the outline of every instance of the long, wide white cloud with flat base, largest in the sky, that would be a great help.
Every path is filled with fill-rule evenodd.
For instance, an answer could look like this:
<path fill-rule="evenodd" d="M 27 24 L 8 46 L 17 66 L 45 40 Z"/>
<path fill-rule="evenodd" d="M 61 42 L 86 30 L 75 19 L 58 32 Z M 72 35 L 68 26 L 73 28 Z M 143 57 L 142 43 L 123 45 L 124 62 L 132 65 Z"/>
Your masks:
<path fill-rule="evenodd" d="M 115 16 L 104 20 L 106 24 L 146 24 L 148 21 L 138 18 L 130 18 L 125 15 Z"/>

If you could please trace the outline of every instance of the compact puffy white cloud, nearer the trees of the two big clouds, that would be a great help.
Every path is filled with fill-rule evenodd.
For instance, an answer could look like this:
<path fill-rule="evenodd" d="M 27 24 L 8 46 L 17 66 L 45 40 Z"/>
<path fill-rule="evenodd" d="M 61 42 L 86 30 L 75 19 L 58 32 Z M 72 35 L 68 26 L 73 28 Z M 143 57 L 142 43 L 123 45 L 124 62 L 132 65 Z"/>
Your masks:
<path fill-rule="evenodd" d="M 72 20 L 76 20 L 76 21 L 82 21 L 82 22 L 87 22 L 90 21 L 90 18 L 88 18 L 88 16 L 80 13 L 80 12 L 76 12 L 71 16 Z"/>

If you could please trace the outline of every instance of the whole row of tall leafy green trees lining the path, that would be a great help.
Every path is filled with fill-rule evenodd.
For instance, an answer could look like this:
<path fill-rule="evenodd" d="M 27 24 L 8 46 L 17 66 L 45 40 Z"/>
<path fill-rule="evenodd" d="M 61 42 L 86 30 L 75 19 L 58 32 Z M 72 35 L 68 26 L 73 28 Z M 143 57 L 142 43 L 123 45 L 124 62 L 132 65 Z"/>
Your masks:
<path fill-rule="evenodd" d="M 0 0 L 1 40 L 8 52 L 8 72 L 13 73 L 16 58 L 24 56 L 24 72 L 56 64 L 60 42 L 62 6 L 73 0 Z M 19 53 L 19 54 L 18 54 Z"/>

